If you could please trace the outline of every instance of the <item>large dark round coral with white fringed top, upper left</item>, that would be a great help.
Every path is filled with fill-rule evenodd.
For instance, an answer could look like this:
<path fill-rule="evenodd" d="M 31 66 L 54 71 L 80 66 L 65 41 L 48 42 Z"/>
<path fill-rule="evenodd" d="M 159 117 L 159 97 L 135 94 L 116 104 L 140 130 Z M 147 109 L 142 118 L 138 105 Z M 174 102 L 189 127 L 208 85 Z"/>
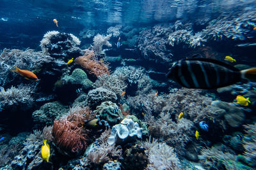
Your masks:
<path fill-rule="evenodd" d="M 73 34 L 48 31 L 40 41 L 40 46 L 43 53 L 49 53 L 51 57 L 56 59 L 68 60 L 68 57 L 83 55 L 82 50 L 77 47 L 80 43 L 81 41 Z"/>

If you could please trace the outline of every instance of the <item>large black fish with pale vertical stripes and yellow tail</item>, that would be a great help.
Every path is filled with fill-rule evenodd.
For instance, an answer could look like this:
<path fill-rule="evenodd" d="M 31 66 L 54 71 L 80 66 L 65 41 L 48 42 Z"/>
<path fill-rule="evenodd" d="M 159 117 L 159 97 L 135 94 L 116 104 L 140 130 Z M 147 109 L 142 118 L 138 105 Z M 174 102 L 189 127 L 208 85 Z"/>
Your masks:
<path fill-rule="evenodd" d="M 183 87 L 216 89 L 247 79 L 256 81 L 256 67 L 239 71 L 236 67 L 214 59 L 182 59 L 173 64 L 166 75 Z"/>

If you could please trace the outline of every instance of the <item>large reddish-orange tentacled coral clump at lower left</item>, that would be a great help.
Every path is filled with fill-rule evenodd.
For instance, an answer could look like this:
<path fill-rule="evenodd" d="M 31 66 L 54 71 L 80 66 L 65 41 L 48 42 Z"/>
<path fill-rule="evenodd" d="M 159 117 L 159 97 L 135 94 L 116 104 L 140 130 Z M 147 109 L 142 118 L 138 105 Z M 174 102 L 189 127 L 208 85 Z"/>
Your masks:
<path fill-rule="evenodd" d="M 84 108 L 83 111 L 81 108 L 70 109 L 70 115 L 60 120 L 54 120 L 53 142 L 65 155 L 80 155 L 86 149 L 87 135 L 83 124 L 86 121 L 86 115 L 90 115 L 91 111 L 89 108 Z"/>

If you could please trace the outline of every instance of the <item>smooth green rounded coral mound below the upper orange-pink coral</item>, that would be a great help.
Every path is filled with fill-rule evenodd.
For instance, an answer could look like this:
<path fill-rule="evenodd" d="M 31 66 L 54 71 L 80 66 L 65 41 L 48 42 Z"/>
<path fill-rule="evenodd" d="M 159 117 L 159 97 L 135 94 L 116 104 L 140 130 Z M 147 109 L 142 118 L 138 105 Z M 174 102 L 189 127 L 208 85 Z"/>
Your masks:
<path fill-rule="evenodd" d="M 86 73 L 82 69 L 74 69 L 70 76 L 65 75 L 61 78 L 61 85 L 77 85 L 86 90 L 90 89 L 93 83 L 87 78 Z"/>

